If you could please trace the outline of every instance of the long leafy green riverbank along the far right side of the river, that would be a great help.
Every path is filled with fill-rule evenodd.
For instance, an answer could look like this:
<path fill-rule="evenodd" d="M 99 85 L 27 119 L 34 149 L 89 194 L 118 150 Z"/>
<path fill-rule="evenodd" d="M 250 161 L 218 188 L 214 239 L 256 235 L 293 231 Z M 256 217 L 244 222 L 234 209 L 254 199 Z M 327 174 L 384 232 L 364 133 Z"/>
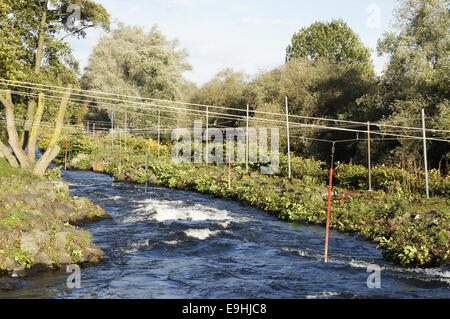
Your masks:
<path fill-rule="evenodd" d="M 96 171 L 107 173 L 117 181 L 145 183 L 145 153 L 150 143 L 148 182 L 152 185 L 236 200 L 290 222 L 324 225 L 326 221 L 327 170 L 318 161 L 294 158 L 295 174 L 291 180 L 282 174 L 261 175 L 257 165 L 247 174 L 242 165 L 236 164 L 232 166 L 228 188 L 225 165 L 176 164 L 168 156 L 170 147 L 165 145 L 161 157 L 157 158 L 154 141 L 129 138 L 128 152 L 123 153 L 122 160 L 119 147 L 111 152 L 111 140 L 107 138 L 96 143 L 87 137 L 73 138 L 71 142 L 74 148 L 69 168 L 86 170 L 95 166 Z M 92 152 L 83 153 L 86 149 Z M 281 158 L 281 169 L 283 161 Z M 330 228 L 356 233 L 378 243 L 383 257 L 401 266 L 449 264 L 449 178 L 442 178 L 436 172 L 430 174 L 435 196 L 427 200 L 418 193 L 421 191 L 418 179 L 408 177 L 406 186 L 400 184 L 400 179 L 406 176 L 400 169 L 381 166 L 374 171 L 378 172 L 374 178 L 375 190 L 369 192 L 358 189 L 361 182 L 357 177 L 364 174 L 360 166 L 337 165 Z M 356 186 L 352 187 L 353 184 Z"/>

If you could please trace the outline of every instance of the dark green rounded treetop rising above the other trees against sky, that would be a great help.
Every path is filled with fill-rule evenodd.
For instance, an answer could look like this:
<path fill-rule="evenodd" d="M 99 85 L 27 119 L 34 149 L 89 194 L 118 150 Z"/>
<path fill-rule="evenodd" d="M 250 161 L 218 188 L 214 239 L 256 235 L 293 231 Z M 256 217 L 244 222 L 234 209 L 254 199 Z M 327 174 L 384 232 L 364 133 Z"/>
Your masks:
<path fill-rule="evenodd" d="M 301 57 L 371 65 L 370 50 L 343 20 L 315 22 L 294 33 L 286 49 L 286 61 Z"/>

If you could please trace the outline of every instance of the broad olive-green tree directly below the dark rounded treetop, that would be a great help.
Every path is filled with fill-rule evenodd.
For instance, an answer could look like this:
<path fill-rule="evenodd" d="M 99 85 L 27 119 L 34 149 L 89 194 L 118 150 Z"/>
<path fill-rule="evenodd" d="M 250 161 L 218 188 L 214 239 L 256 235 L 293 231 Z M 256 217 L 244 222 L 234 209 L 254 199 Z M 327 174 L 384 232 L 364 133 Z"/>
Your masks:
<path fill-rule="evenodd" d="M 360 68 L 355 63 L 330 62 L 327 58 L 318 58 L 315 62 L 308 58 L 298 58 L 283 66 L 259 75 L 250 83 L 246 96 L 250 105 L 257 111 L 280 113 L 281 117 L 258 114 L 258 117 L 285 121 L 285 96 L 289 100 L 289 114 L 317 118 L 330 118 L 354 121 L 377 120 L 378 114 L 371 105 L 358 103 L 364 95 L 376 89 L 372 72 Z M 339 125 L 339 123 L 300 120 L 290 118 L 293 122 Z M 255 122 L 255 125 L 261 125 Z M 285 132 L 280 124 L 280 132 Z M 328 159 L 330 147 L 327 143 L 312 139 L 344 140 L 355 138 L 354 133 L 316 130 L 312 128 L 291 128 L 292 136 L 305 139 L 291 139 L 291 150 L 307 157 Z M 342 144 L 341 144 L 342 145 Z M 341 147 L 337 145 L 336 147 Z M 285 139 L 281 146 L 286 146 Z M 348 160 L 350 156 L 359 155 L 356 145 L 336 152 L 337 160 Z"/>

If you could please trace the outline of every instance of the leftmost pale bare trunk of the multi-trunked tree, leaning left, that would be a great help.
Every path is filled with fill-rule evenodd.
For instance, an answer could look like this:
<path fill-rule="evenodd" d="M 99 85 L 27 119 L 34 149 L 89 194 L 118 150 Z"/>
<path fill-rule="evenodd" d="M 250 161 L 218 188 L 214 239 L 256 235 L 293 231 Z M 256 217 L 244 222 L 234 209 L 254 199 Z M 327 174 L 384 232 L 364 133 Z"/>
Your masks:
<path fill-rule="evenodd" d="M 17 134 L 14 118 L 14 104 L 11 100 L 11 91 L 6 91 L 6 99 L 3 98 L 3 96 L 0 94 L 0 101 L 5 106 L 6 129 L 9 136 L 8 143 L 11 146 L 14 155 L 17 157 L 20 166 L 24 169 L 31 170 L 33 168 L 33 165 L 28 159 L 25 151 L 22 149 L 22 145 L 20 145 L 19 135 Z"/>

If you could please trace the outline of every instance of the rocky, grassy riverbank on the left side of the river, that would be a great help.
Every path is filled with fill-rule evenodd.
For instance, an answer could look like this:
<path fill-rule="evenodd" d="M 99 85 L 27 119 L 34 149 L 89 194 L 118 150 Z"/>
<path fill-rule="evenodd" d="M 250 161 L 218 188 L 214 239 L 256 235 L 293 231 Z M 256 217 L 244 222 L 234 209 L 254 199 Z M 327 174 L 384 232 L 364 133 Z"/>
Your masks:
<path fill-rule="evenodd" d="M 79 226 L 109 215 L 86 198 L 71 198 L 57 175 L 54 169 L 38 178 L 0 158 L 0 276 L 24 277 L 103 259 Z"/>

